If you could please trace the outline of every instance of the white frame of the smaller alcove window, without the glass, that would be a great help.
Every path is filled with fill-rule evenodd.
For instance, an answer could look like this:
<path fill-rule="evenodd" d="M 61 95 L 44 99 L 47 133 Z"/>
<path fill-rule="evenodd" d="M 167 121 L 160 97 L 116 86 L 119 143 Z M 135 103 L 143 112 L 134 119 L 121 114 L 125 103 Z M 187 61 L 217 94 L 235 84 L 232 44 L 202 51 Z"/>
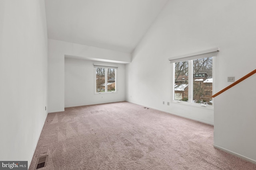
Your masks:
<path fill-rule="evenodd" d="M 116 65 L 106 65 L 106 64 L 93 64 L 94 65 L 94 94 L 112 94 L 118 92 L 118 66 Z M 96 68 L 105 68 L 105 92 L 97 92 L 97 83 L 96 83 Z M 115 69 L 115 91 L 108 92 L 108 74 L 106 70 L 108 68 Z"/>

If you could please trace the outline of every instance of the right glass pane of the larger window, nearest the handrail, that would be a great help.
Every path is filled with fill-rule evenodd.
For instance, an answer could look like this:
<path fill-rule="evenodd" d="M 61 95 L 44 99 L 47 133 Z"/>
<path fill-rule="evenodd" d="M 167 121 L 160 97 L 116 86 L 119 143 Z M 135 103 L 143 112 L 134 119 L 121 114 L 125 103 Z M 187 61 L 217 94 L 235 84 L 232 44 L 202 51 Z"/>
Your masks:
<path fill-rule="evenodd" d="M 212 105 L 212 57 L 193 60 L 193 103 Z"/>

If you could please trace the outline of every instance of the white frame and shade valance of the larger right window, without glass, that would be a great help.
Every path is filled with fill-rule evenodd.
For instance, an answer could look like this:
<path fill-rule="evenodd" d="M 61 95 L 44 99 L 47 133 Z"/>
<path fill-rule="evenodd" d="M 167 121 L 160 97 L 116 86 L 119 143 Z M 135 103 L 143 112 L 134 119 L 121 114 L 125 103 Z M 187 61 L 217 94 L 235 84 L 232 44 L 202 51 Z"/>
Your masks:
<path fill-rule="evenodd" d="M 193 60 L 194 59 L 202 59 L 206 57 L 212 57 L 212 77 L 213 77 L 213 83 L 212 83 L 212 94 L 215 93 L 215 82 L 216 82 L 216 57 L 218 56 L 218 52 L 220 51 L 220 48 L 213 48 L 208 49 L 204 51 L 199 51 L 196 53 L 190 53 L 186 55 L 180 55 L 175 57 L 170 57 L 168 60 L 171 63 L 171 69 L 172 69 L 172 103 L 176 104 L 184 104 L 189 106 L 195 106 L 195 107 L 204 107 L 207 109 L 213 109 L 214 108 L 214 99 L 212 99 L 212 105 L 206 105 L 206 104 L 197 104 L 193 103 L 192 101 L 192 95 L 193 95 Z M 180 100 L 174 100 L 174 79 L 175 79 L 175 72 L 174 72 L 174 64 L 176 62 L 181 61 L 188 61 L 188 101 L 180 101 Z"/>

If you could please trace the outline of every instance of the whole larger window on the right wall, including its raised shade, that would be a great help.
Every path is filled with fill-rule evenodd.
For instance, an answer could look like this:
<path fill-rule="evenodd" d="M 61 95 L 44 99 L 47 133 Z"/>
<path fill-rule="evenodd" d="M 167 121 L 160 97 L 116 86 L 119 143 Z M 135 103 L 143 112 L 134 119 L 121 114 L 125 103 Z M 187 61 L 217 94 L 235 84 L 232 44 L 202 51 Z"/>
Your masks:
<path fill-rule="evenodd" d="M 173 57 L 169 60 L 174 67 L 173 99 L 185 103 L 212 105 L 213 60 L 219 49 L 206 53 Z"/>

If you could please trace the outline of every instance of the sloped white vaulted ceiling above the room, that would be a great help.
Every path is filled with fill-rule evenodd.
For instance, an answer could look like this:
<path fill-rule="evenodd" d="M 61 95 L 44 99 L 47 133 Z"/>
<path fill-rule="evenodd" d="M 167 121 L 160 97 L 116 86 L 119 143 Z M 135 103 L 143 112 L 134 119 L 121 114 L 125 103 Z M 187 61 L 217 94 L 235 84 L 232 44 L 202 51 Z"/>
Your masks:
<path fill-rule="evenodd" d="M 45 0 L 48 38 L 131 53 L 168 0 Z"/>

